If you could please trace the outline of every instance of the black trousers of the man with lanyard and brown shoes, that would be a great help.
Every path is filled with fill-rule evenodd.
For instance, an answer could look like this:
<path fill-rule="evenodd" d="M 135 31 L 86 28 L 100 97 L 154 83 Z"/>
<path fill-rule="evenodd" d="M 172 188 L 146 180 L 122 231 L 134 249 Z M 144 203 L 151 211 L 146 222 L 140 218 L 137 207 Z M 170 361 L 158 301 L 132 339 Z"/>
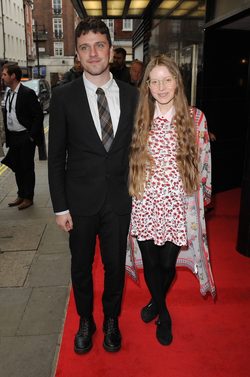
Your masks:
<path fill-rule="evenodd" d="M 20 134 L 21 133 L 21 134 Z M 9 133 L 9 154 L 15 178 L 17 181 L 17 195 L 20 198 L 33 200 L 35 188 L 35 148 L 29 133 Z"/>

